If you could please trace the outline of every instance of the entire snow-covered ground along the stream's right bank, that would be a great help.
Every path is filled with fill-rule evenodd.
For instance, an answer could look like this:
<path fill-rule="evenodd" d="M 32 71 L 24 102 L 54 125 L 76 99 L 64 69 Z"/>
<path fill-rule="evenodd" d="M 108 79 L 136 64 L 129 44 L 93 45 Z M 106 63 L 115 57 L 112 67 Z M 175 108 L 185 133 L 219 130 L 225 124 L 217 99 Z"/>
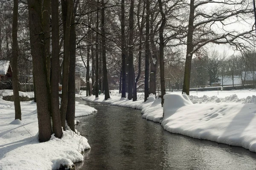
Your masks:
<path fill-rule="evenodd" d="M 164 107 L 160 99 L 151 95 L 144 102 L 121 98 L 118 91 L 111 91 L 111 98 L 104 95 L 84 97 L 86 101 L 109 103 L 122 107 L 141 109 L 143 118 L 160 122 L 171 133 L 187 135 L 219 143 L 240 146 L 256 152 L 256 90 L 167 92 Z M 164 117 L 163 117 L 164 110 Z"/>

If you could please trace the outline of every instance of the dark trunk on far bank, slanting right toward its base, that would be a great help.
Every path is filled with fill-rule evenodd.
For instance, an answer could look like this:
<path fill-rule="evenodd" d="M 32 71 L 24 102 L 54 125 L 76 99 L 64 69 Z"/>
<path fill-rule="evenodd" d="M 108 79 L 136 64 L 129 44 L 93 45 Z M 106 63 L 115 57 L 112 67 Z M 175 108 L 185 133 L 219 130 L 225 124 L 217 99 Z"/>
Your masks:
<path fill-rule="evenodd" d="M 108 72 L 107 72 L 107 62 L 106 62 L 106 41 L 105 41 L 105 3 L 104 0 L 102 2 L 102 66 L 103 66 L 103 84 L 105 91 L 105 100 L 110 98 L 109 90 L 108 90 Z"/>

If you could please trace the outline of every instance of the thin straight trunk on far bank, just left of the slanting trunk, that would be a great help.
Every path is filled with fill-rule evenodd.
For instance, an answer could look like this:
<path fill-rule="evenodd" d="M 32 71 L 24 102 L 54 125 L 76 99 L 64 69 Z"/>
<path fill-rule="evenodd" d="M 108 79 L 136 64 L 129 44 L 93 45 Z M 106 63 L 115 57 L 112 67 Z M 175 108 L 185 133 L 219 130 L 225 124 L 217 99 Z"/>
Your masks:
<path fill-rule="evenodd" d="M 96 31 L 99 31 L 99 0 L 97 0 L 97 20 L 96 20 Z M 95 72 L 95 98 L 99 97 L 99 35 L 96 33 L 96 50 L 95 50 L 95 57 L 96 57 L 96 72 Z"/>

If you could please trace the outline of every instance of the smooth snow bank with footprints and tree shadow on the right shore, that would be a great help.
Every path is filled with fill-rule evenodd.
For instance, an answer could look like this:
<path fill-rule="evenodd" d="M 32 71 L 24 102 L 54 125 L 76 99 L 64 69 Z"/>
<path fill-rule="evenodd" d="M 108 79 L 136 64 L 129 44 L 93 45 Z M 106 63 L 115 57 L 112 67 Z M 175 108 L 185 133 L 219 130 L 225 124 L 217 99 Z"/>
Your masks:
<path fill-rule="evenodd" d="M 175 98 L 178 101 L 176 104 Z M 234 98 L 236 96 L 226 99 L 232 101 Z M 255 104 L 192 104 L 189 98 L 183 100 L 181 96 L 166 95 L 163 109 L 165 115 L 161 124 L 171 133 L 240 146 L 256 152 Z"/>

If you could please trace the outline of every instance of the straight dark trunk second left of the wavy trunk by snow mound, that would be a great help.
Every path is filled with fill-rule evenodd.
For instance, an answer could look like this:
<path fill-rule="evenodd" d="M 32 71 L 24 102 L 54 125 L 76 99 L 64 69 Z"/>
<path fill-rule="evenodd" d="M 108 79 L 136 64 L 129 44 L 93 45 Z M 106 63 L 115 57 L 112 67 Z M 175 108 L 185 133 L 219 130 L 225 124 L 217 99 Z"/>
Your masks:
<path fill-rule="evenodd" d="M 149 6 L 150 2 L 149 0 L 146 0 L 146 42 L 145 42 L 145 89 L 144 89 L 144 101 L 148 100 L 149 96 L 149 91 L 148 91 L 148 79 L 149 79 L 149 54 L 150 54 L 150 49 L 149 49 Z"/>

